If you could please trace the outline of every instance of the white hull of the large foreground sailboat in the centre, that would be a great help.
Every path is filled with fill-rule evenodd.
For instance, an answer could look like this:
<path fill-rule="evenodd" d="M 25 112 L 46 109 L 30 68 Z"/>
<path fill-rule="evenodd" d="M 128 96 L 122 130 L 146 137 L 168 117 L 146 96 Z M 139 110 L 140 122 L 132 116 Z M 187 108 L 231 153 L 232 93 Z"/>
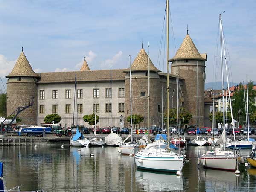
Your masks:
<path fill-rule="evenodd" d="M 177 172 L 183 169 L 183 157 L 146 157 L 135 154 L 135 163 L 139 169 Z"/>

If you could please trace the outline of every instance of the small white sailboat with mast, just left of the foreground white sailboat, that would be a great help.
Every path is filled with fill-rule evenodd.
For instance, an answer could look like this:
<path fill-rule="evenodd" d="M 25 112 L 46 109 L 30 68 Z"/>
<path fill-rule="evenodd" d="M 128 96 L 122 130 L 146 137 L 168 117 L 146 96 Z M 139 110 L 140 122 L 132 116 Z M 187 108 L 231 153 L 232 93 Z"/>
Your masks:
<path fill-rule="evenodd" d="M 130 55 L 130 61 L 129 61 L 129 68 L 130 68 L 130 112 L 131 112 L 131 135 L 129 135 L 129 136 L 131 136 L 131 141 L 120 145 L 119 152 L 121 154 L 134 155 L 135 153 L 137 153 L 140 145 L 138 143 L 134 142 L 133 137 L 132 137 L 133 130 L 132 130 L 132 108 L 131 108 L 131 55 Z M 127 140 L 127 139 L 128 138 L 126 138 L 125 140 Z"/>

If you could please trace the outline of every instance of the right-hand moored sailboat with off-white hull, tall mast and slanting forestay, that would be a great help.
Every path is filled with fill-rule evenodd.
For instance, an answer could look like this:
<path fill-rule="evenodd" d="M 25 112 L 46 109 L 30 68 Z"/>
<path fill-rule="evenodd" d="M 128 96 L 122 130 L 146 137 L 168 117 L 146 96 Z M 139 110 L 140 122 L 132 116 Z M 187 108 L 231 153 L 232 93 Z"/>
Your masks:
<path fill-rule="evenodd" d="M 221 73 L 222 73 L 222 103 L 224 106 L 224 74 L 223 74 L 223 59 L 225 60 L 225 67 L 226 67 L 226 76 L 227 76 L 227 86 L 228 91 L 230 93 L 229 81 L 228 81 L 228 74 L 227 74 L 227 61 L 226 61 L 226 52 L 225 52 L 225 44 L 223 38 L 223 28 L 222 28 L 222 20 L 221 14 L 219 15 L 219 23 L 220 23 L 220 44 L 221 44 Z M 223 48 L 222 48 L 223 46 Z M 224 57 L 223 57 L 223 49 L 224 49 Z M 235 141 L 235 153 L 233 151 L 225 149 L 226 143 L 226 130 L 223 129 L 221 134 L 221 148 L 214 148 L 214 150 L 207 151 L 198 158 L 198 164 L 202 164 L 205 168 L 210 169 L 223 169 L 223 170 L 236 170 L 236 174 L 239 174 L 239 163 L 241 157 L 237 154 L 236 150 L 236 138 L 235 138 L 235 131 L 234 131 L 234 122 L 233 122 L 233 112 L 232 112 L 232 105 L 231 99 L 229 94 L 229 102 L 230 102 L 230 111 L 231 111 L 231 118 L 232 118 L 232 128 L 233 128 L 233 135 Z M 225 125 L 225 111 L 223 109 L 223 125 Z"/>

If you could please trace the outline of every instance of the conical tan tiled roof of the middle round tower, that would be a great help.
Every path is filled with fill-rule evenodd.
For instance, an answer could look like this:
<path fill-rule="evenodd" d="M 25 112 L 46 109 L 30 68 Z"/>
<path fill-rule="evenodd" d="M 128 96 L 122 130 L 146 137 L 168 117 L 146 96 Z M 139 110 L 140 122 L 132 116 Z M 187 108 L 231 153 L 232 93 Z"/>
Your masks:
<path fill-rule="evenodd" d="M 145 49 L 141 48 L 134 62 L 131 64 L 132 71 L 148 71 L 148 54 Z M 155 72 L 161 72 L 154 66 L 151 59 L 149 58 L 149 70 Z M 126 71 L 125 71 L 126 72 Z"/>

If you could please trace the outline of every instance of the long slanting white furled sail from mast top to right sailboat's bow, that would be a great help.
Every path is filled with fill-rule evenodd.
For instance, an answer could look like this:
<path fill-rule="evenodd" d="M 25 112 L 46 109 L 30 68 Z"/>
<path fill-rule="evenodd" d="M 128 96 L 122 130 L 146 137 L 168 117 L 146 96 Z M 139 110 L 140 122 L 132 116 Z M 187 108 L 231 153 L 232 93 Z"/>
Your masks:
<path fill-rule="evenodd" d="M 221 16 L 220 16 L 220 18 L 221 18 Z M 233 122 L 233 110 L 232 110 L 231 97 L 230 97 L 230 86 L 229 86 L 229 80 L 228 80 L 228 74 L 227 74 L 227 58 L 226 58 L 226 49 L 225 49 L 224 37 L 223 37 L 222 20 L 220 23 L 221 23 L 221 37 L 222 37 L 222 44 L 223 44 L 223 49 L 224 49 L 224 59 L 225 59 L 225 68 L 226 68 L 226 76 L 227 76 L 228 97 L 229 97 L 230 112 L 231 112 L 231 123 L 232 123 L 232 128 L 233 128 L 233 136 L 234 136 L 235 149 L 236 149 L 236 137 L 235 137 L 234 122 Z M 222 58 L 221 58 L 221 61 L 222 61 Z M 224 119 L 224 117 L 223 117 L 223 119 Z M 224 120 L 224 122 L 225 122 L 225 120 Z"/>

